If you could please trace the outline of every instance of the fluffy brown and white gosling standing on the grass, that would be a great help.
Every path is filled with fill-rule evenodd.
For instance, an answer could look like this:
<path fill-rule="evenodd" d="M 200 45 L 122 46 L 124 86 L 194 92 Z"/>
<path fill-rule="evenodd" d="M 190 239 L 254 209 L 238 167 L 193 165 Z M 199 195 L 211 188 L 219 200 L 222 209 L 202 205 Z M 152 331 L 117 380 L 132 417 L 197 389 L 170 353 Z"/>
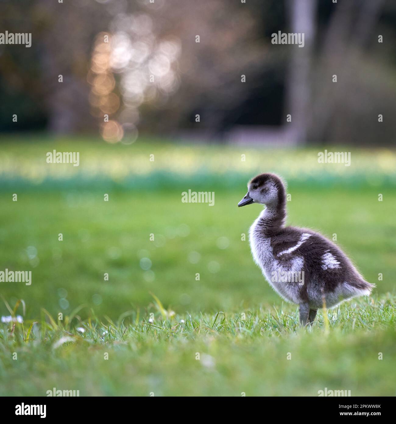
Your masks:
<path fill-rule="evenodd" d="M 286 192 L 278 176 L 260 174 L 247 187 L 238 206 L 266 206 L 250 227 L 253 258 L 273 289 L 299 305 L 302 326 L 312 325 L 321 307 L 371 294 L 375 285 L 363 279 L 337 245 L 312 230 L 285 227 Z"/>

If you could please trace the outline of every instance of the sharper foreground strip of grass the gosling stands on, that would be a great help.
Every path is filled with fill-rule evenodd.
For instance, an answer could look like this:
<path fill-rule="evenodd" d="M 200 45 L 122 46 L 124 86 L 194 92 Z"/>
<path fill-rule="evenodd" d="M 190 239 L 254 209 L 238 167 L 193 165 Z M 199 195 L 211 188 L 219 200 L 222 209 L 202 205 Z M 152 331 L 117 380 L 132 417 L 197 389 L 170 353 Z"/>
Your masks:
<path fill-rule="evenodd" d="M 153 301 L 116 323 L 51 324 L 43 312 L 28 342 L 29 323 L 12 335 L 11 324 L 0 327 L 0 395 L 45 396 L 55 387 L 80 396 L 318 396 L 327 387 L 394 396 L 394 301 L 345 304 L 329 313 L 328 330 L 319 312 L 312 331 L 299 328 L 296 308 L 281 305 L 173 315 Z"/>

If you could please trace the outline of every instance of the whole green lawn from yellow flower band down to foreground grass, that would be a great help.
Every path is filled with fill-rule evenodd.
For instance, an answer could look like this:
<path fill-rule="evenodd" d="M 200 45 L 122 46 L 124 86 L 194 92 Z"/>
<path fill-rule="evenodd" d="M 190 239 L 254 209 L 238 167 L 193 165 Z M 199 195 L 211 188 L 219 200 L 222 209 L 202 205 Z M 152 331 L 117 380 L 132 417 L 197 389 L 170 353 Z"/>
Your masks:
<path fill-rule="evenodd" d="M 54 148 L 80 166 L 47 164 Z M 0 324 L 0 394 L 394 396 L 396 155 L 320 167 L 317 152 L 3 140 L 0 270 L 32 284 L 0 282 L 0 315 L 24 321 Z M 288 223 L 336 237 L 372 298 L 299 329 L 243 240 L 260 206 L 236 205 L 260 171 L 285 177 Z M 189 189 L 214 206 L 182 203 Z"/>

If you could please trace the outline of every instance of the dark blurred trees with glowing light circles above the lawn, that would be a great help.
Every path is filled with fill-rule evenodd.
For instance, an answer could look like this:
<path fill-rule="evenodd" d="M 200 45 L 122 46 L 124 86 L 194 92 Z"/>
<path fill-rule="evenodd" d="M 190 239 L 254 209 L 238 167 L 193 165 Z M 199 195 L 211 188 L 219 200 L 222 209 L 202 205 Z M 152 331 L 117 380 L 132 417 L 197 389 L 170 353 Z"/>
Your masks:
<path fill-rule="evenodd" d="M 137 130 L 260 145 L 394 141 L 391 0 L 0 5 L 2 31 L 32 34 L 30 48 L 0 45 L 3 131 L 99 132 L 107 142 Z M 278 31 L 304 32 L 304 47 L 271 44 Z"/>

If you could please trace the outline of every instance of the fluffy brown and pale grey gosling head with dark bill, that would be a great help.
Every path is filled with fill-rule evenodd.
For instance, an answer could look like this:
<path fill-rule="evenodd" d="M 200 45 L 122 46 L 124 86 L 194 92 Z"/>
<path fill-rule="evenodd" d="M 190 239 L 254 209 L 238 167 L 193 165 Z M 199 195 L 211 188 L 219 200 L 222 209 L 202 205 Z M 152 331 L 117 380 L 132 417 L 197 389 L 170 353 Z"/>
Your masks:
<path fill-rule="evenodd" d="M 247 184 L 248 192 L 238 203 L 246 206 L 252 203 L 272 206 L 285 203 L 285 187 L 281 179 L 274 174 L 260 174 Z"/>

